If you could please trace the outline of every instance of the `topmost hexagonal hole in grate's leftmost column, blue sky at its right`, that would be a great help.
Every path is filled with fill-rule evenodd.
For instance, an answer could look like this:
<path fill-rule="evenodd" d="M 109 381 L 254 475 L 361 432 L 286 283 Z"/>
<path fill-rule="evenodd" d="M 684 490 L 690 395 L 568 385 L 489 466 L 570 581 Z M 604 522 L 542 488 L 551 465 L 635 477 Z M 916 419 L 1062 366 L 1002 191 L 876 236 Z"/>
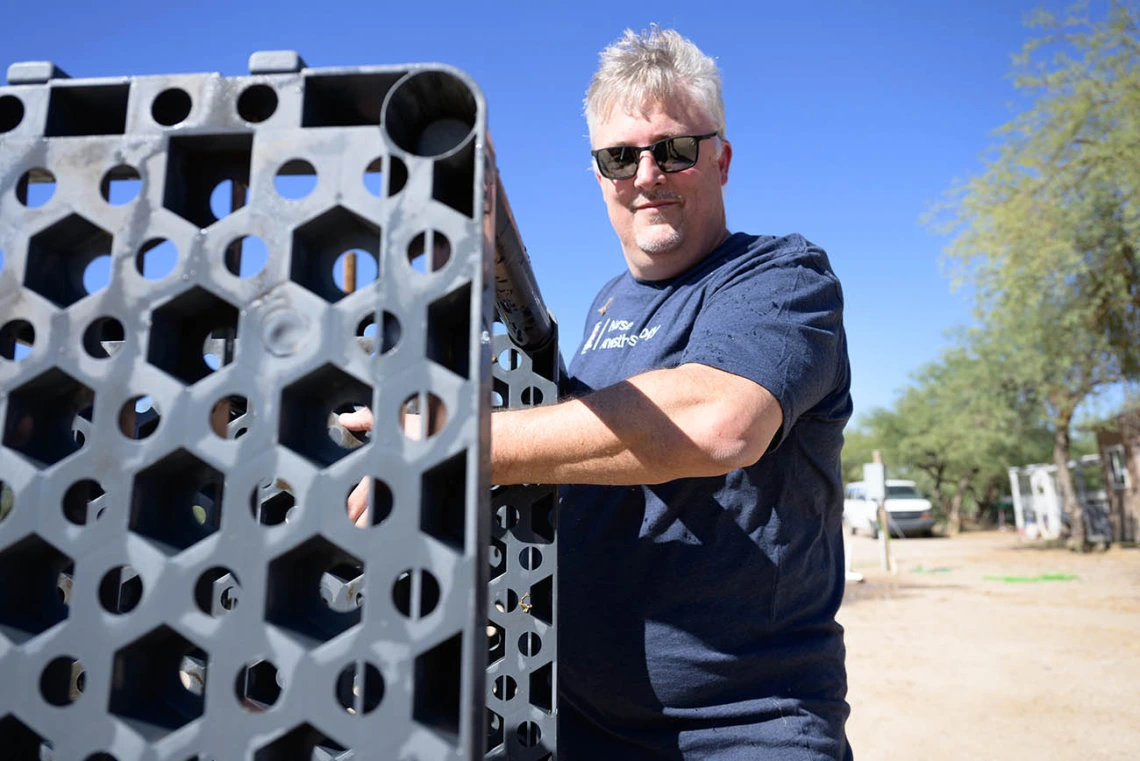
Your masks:
<path fill-rule="evenodd" d="M 71 306 L 106 285 L 106 276 L 92 277 L 88 267 L 101 257 L 109 264 L 111 244 L 109 232 L 72 214 L 27 242 L 24 285 L 56 306 Z"/>

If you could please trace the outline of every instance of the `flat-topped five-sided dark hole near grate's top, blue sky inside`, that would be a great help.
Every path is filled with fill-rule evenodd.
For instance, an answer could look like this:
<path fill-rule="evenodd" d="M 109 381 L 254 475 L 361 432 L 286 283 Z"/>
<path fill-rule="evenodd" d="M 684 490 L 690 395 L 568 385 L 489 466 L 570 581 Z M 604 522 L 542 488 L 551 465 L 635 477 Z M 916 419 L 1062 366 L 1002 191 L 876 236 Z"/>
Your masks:
<path fill-rule="evenodd" d="M 245 205 L 252 155 L 253 134 L 172 136 L 162 205 L 210 227 Z"/>

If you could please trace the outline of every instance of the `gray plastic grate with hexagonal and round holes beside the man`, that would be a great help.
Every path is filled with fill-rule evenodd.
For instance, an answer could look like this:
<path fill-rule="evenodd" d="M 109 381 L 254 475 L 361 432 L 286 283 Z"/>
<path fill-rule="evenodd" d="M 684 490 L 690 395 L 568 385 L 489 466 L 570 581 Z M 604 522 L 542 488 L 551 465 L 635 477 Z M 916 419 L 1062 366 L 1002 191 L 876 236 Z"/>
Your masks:
<path fill-rule="evenodd" d="M 443 66 L 0 88 L 0 736 L 17 758 L 482 753 L 486 136 L 482 95 Z M 355 291 L 335 275 L 350 249 Z M 331 422 L 358 406 L 370 436 Z M 361 529 L 344 504 L 363 478 Z M 536 489 L 523 512 L 553 510 Z M 553 542 L 496 538 L 540 546 L 540 571 L 504 579 L 553 606 Z M 530 707 L 504 710 L 540 739 L 508 758 L 554 747 L 547 617 L 503 620 L 545 637 L 510 672 Z"/>

